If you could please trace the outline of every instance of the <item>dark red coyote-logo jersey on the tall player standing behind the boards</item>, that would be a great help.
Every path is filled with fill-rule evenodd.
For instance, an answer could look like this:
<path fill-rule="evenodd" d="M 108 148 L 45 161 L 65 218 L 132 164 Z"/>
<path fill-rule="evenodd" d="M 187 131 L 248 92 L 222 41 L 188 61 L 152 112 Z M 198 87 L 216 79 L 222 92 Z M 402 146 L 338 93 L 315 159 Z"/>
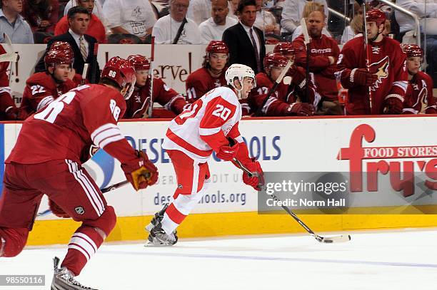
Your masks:
<path fill-rule="evenodd" d="M 368 43 L 369 70 L 378 76 L 378 80 L 371 87 L 372 109 L 370 110 L 368 87 L 356 86 L 351 81 L 351 71 L 354 68 L 366 68 L 366 50 L 363 41 L 363 36 L 351 39 L 343 46 L 338 57 L 337 77 L 340 78 L 343 88 L 348 88 L 347 115 L 382 114 L 387 95 L 393 94 L 405 100 L 408 85 L 406 54 L 403 53 L 398 41 L 384 37 L 381 42 Z"/>

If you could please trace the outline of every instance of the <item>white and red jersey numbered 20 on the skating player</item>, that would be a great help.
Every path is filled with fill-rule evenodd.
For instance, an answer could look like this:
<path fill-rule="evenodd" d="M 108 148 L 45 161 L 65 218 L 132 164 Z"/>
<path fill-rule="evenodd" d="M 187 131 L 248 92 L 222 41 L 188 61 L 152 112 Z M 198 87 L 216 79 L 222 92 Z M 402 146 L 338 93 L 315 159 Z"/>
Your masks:
<path fill-rule="evenodd" d="M 171 120 L 162 147 L 180 150 L 199 162 L 206 162 L 221 145 L 225 136 L 243 143 L 238 131 L 241 105 L 231 88 L 214 88 Z"/>

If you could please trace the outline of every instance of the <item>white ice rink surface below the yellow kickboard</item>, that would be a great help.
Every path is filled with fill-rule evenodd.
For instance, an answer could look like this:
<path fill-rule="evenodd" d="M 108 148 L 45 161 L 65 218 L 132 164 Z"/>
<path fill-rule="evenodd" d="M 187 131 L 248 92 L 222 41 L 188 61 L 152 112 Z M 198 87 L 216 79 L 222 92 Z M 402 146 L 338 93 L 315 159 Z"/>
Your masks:
<path fill-rule="evenodd" d="M 329 234 L 323 234 L 328 236 Z M 308 235 L 181 239 L 174 247 L 104 244 L 77 280 L 96 289 L 437 289 L 437 229 L 352 232 L 351 242 Z M 45 274 L 66 247 L 26 248 L 0 274 Z"/>

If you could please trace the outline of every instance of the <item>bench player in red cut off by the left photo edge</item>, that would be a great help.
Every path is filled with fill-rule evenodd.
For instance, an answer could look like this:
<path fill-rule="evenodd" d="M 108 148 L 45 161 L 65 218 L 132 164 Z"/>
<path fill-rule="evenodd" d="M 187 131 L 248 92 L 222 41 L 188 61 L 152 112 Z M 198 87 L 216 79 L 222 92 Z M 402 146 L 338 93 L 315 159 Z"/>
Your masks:
<path fill-rule="evenodd" d="M 0 55 L 6 53 L 0 44 Z M 14 100 L 11 97 L 11 88 L 9 87 L 9 76 L 6 73 L 9 67 L 9 61 L 0 62 L 0 121 L 3 120 L 22 120 L 19 108 L 16 108 Z"/>

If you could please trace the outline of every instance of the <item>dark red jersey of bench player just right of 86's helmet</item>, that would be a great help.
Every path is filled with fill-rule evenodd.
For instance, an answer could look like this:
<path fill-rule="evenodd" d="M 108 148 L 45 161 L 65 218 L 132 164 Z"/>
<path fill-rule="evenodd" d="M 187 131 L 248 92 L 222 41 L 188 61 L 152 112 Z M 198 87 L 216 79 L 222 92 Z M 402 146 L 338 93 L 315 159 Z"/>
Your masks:
<path fill-rule="evenodd" d="M 144 113 L 149 109 L 150 78 L 142 88 L 135 88 L 131 98 L 126 101 L 125 119 L 143 118 Z M 159 77 L 154 77 L 154 102 L 162 105 L 166 110 L 171 110 L 179 115 L 187 105 L 183 95 L 164 83 Z"/>

